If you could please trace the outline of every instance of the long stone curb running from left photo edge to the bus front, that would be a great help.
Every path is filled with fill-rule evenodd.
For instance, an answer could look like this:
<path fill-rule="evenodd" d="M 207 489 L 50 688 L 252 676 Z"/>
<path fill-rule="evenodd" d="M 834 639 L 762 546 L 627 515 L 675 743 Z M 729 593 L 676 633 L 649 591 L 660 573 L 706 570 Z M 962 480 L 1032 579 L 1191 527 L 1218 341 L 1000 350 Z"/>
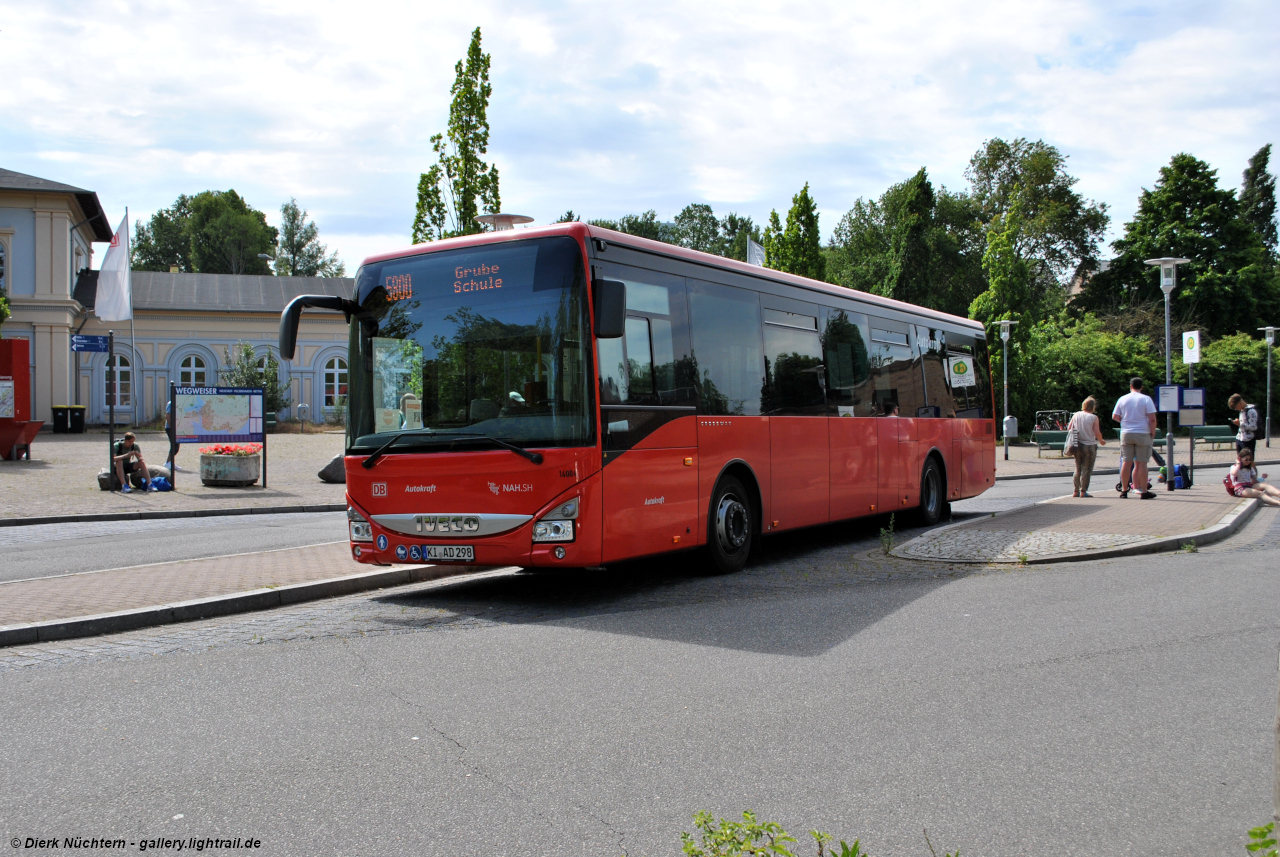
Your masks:
<path fill-rule="evenodd" d="M 492 569 L 474 565 L 394 565 L 376 572 L 348 574 L 347 577 L 334 577 L 326 581 L 264 587 L 247 592 L 229 592 L 227 595 L 214 595 L 207 599 L 193 599 L 191 601 L 177 601 L 174 604 L 160 604 L 90 617 L 5 625 L 0 627 L 0 647 L 50 642 L 54 640 L 73 640 L 76 637 L 97 637 L 178 622 L 193 622 L 196 619 L 214 619 L 237 613 L 270 610 L 303 601 L 316 601 L 319 599 L 403 586 L 406 583 L 421 583 L 424 581 L 470 574 L 477 570 Z"/>

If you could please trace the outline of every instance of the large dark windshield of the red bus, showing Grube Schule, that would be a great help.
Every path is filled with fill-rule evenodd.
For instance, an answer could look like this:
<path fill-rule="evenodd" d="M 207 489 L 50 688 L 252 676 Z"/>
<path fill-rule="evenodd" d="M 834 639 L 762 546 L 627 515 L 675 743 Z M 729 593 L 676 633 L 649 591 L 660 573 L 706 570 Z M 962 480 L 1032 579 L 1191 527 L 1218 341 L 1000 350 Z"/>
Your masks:
<path fill-rule="evenodd" d="M 348 449 L 594 443 L 582 255 L 508 240 L 365 265 L 351 324 Z M 457 444 L 442 444 L 449 435 Z"/>

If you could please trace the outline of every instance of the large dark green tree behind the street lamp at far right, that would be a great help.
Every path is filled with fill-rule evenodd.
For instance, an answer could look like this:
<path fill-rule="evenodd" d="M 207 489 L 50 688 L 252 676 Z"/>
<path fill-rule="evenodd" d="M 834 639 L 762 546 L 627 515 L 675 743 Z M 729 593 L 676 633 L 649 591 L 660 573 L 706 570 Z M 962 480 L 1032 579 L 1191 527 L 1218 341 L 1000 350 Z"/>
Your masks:
<path fill-rule="evenodd" d="M 1240 216 L 1235 192 L 1220 188 L 1217 171 L 1192 155 L 1175 155 L 1160 169 L 1156 187 L 1143 189 L 1134 219 L 1112 246 L 1119 256 L 1073 307 L 1120 315 L 1162 303 L 1158 271 L 1146 260 L 1181 256 L 1192 261 L 1178 270 L 1170 311 L 1198 320 L 1208 338 L 1252 331 L 1260 318 L 1280 313 L 1280 283 L 1262 238 Z"/>

